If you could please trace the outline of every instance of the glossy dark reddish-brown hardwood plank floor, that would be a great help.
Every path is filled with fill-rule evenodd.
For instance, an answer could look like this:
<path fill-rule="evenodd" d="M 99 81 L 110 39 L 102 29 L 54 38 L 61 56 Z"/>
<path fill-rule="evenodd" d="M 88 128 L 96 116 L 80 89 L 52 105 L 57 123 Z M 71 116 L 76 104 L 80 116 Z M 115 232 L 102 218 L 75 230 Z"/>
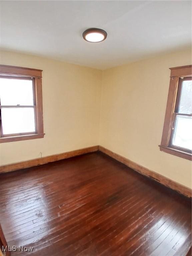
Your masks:
<path fill-rule="evenodd" d="M 187 254 L 191 201 L 96 152 L 0 175 L 9 246 L 32 256 Z"/>

